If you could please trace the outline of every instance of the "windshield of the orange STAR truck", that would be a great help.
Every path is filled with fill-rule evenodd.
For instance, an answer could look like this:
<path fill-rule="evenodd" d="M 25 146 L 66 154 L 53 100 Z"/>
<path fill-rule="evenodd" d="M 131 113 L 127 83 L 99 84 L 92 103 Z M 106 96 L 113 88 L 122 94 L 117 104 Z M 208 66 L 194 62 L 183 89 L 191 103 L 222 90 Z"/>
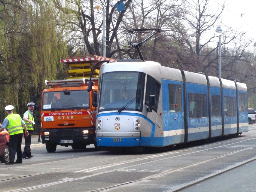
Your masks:
<path fill-rule="evenodd" d="M 44 92 L 42 111 L 88 109 L 89 98 L 87 90 Z"/>

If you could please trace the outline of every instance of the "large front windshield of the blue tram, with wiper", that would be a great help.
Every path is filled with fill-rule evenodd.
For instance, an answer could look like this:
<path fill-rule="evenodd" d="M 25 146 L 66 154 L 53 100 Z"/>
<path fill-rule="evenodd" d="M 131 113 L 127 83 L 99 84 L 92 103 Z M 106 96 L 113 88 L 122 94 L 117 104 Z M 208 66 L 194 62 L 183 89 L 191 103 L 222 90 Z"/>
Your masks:
<path fill-rule="evenodd" d="M 108 72 L 102 74 L 99 112 L 140 111 L 143 106 L 145 73 Z"/>

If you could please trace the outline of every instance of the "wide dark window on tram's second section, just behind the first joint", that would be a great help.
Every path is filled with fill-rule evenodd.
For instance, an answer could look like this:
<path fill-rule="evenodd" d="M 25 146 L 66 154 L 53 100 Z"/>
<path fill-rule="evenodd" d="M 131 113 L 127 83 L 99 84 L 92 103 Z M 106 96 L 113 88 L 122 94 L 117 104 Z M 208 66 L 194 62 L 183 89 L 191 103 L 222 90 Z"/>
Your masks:
<path fill-rule="evenodd" d="M 206 94 L 188 93 L 189 118 L 202 118 L 207 116 Z"/>

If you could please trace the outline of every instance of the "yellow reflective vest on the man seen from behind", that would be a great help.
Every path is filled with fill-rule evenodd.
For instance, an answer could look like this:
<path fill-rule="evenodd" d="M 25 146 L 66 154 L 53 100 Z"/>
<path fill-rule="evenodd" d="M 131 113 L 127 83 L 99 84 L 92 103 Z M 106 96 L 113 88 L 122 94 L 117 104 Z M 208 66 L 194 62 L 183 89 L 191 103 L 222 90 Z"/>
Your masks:
<path fill-rule="evenodd" d="M 6 117 L 9 120 L 9 125 L 6 127 L 7 131 L 10 135 L 15 135 L 19 133 L 23 133 L 22 125 L 21 125 L 21 117 L 19 114 L 9 114 Z"/>

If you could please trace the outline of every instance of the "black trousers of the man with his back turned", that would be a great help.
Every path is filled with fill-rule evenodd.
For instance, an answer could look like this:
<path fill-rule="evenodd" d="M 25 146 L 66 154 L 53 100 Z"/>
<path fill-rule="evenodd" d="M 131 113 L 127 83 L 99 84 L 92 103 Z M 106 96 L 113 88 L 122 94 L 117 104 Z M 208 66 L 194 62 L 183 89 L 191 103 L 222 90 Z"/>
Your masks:
<path fill-rule="evenodd" d="M 21 142 L 22 142 L 23 133 L 10 135 L 9 139 L 9 155 L 10 163 L 14 163 L 15 153 L 17 152 L 17 162 L 22 163 L 22 151 L 21 151 Z"/>

